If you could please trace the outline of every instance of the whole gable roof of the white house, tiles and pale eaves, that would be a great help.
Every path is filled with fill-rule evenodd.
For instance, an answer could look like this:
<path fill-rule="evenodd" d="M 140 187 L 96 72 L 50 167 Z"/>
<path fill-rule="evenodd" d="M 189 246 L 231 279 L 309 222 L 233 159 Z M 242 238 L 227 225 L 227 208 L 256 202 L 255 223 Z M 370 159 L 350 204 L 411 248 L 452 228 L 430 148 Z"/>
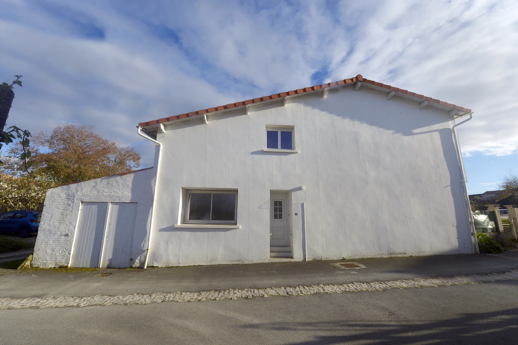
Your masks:
<path fill-rule="evenodd" d="M 301 94 L 314 93 L 314 92 L 318 92 L 318 91 L 322 92 L 326 89 L 330 89 L 330 88 L 335 89 L 335 88 L 342 87 L 342 86 L 345 86 L 348 84 L 356 84 L 358 87 L 360 87 L 361 85 L 365 85 L 370 89 L 387 92 L 387 95 L 394 92 L 394 94 L 392 94 L 392 95 L 395 95 L 395 96 L 397 95 L 402 98 L 415 100 L 417 102 L 427 102 L 427 103 L 425 103 L 425 105 L 429 104 L 429 105 L 435 106 L 436 108 L 439 108 L 442 110 L 447 110 L 447 111 L 457 110 L 457 112 L 462 112 L 462 114 L 457 114 L 457 116 L 462 116 L 466 113 L 471 112 L 471 109 L 467 109 L 467 108 L 464 108 L 461 106 L 457 106 L 455 104 L 447 103 L 447 102 L 444 102 L 439 99 L 426 97 L 424 95 L 420 95 L 415 92 L 410 92 L 408 90 L 399 89 L 399 88 L 393 87 L 391 85 L 383 84 L 383 83 L 380 83 L 380 82 L 377 82 L 374 80 L 369 80 L 369 79 L 364 78 L 361 74 L 358 74 L 356 77 L 353 77 L 350 79 L 343 79 L 343 80 L 338 80 L 338 81 L 327 83 L 327 84 L 314 85 L 312 87 L 308 87 L 308 88 L 304 88 L 304 89 L 280 92 L 280 93 L 276 93 L 276 94 L 269 95 L 269 96 L 263 96 L 260 98 L 242 100 L 241 102 L 231 103 L 231 104 L 222 105 L 222 106 L 218 106 L 218 107 L 214 107 L 214 108 L 202 109 L 202 110 L 198 110 L 198 111 L 192 111 L 192 112 L 188 112 L 188 113 L 184 113 L 184 114 L 179 114 L 176 116 L 170 116 L 167 118 L 151 120 L 151 121 L 147 121 L 147 122 L 140 122 L 138 125 L 140 127 L 150 127 L 150 126 L 158 127 L 157 125 L 159 125 L 161 123 L 165 123 L 165 122 L 179 121 L 181 119 L 189 119 L 191 117 L 203 116 L 204 114 L 209 114 L 209 113 L 213 113 L 213 112 L 220 113 L 220 112 L 228 111 L 228 110 L 236 110 L 238 108 L 245 108 L 245 107 L 248 107 L 249 105 L 255 105 L 257 103 L 272 102 L 275 100 L 282 100 L 284 97 L 286 97 L 286 98 L 290 97 L 290 96 L 294 97 L 294 96 L 298 96 Z M 391 95 L 391 97 L 392 97 L 392 95 Z M 151 128 L 149 128 L 149 129 L 151 129 Z"/>

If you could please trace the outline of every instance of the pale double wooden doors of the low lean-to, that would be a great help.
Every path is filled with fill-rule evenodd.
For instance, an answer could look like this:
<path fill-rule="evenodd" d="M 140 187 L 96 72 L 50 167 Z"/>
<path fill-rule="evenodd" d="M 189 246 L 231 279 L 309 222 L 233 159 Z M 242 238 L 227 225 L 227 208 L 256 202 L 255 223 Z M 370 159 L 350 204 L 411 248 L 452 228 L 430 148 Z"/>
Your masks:
<path fill-rule="evenodd" d="M 137 203 L 82 203 L 71 267 L 128 267 Z"/>

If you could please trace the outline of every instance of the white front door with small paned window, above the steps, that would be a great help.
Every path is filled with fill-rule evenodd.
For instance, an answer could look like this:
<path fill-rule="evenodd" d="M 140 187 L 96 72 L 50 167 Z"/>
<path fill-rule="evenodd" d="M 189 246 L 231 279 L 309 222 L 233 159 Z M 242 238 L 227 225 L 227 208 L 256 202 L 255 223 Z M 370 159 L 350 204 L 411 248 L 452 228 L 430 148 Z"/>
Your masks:
<path fill-rule="evenodd" d="M 270 246 L 289 246 L 285 193 L 270 194 Z"/>

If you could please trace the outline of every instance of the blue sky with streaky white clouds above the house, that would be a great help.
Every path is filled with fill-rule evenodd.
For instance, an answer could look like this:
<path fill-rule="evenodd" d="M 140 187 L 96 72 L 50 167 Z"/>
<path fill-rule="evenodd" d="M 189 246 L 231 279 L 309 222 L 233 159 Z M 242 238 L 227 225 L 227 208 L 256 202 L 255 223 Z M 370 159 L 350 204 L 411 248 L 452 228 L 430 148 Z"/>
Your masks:
<path fill-rule="evenodd" d="M 142 155 L 139 122 L 362 74 L 474 111 L 470 194 L 518 172 L 518 2 L 0 0 L 7 124 L 66 122 Z"/>

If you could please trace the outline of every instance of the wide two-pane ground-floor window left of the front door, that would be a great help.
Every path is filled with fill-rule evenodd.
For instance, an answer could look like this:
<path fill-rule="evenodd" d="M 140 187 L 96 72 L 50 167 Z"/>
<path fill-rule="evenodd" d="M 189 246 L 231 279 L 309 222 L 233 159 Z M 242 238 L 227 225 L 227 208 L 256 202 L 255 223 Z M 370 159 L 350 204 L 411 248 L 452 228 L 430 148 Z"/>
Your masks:
<path fill-rule="evenodd" d="M 237 224 L 237 191 L 188 190 L 184 222 Z"/>

